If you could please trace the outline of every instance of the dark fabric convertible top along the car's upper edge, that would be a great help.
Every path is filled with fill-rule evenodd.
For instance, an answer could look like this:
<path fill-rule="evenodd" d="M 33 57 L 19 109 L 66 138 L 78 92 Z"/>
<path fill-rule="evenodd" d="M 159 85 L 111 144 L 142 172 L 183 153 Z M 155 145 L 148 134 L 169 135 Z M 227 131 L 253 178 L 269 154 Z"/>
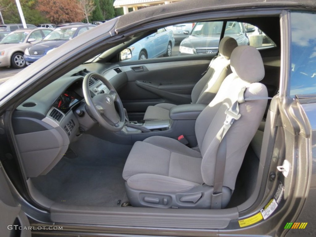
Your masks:
<path fill-rule="evenodd" d="M 236 1 L 237 2 L 237 1 Z M 140 9 L 119 17 L 115 31 L 117 33 L 126 28 L 137 26 L 144 21 L 150 22 L 161 18 L 169 18 L 194 12 L 206 12 L 224 9 L 239 9 L 249 7 L 299 7 L 316 10 L 315 0 L 278 1 L 278 0 L 183 0 L 172 4 L 152 6 Z"/>

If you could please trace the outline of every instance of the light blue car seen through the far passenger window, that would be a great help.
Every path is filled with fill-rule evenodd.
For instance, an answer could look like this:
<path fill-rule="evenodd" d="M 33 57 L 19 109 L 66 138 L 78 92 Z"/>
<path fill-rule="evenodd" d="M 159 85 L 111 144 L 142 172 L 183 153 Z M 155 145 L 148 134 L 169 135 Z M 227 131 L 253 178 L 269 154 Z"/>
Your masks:
<path fill-rule="evenodd" d="M 139 40 L 131 45 L 127 51 L 122 54 L 123 60 L 143 60 L 147 58 L 158 58 L 161 56 L 170 57 L 172 47 L 174 46 L 174 38 L 171 30 L 160 28 L 156 33 Z"/>

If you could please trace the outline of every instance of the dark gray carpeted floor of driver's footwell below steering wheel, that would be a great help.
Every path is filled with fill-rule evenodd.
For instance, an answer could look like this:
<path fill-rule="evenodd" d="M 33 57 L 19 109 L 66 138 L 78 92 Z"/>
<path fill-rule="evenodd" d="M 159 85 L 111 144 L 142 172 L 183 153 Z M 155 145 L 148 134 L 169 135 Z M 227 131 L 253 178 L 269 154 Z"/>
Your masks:
<path fill-rule="evenodd" d="M 131 147 L 83 135 L 71 145 L 76 158 L 63 157 L 48 174 L 32 178 L 32 182 L 56 202 L 119 206 L 127 200 L 122 172 Z"/>

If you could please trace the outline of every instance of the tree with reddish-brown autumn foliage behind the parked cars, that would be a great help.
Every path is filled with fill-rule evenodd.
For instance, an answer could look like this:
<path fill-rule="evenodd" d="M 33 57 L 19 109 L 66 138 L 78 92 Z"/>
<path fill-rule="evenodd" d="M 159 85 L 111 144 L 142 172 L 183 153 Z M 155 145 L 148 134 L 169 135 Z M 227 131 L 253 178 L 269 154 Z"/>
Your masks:
<path fill-rule="evenodd" d="M 73 0 L 38 0 L 38 10 L 44 12 L 52 22 L 81 21 L 85 15 Z"/>

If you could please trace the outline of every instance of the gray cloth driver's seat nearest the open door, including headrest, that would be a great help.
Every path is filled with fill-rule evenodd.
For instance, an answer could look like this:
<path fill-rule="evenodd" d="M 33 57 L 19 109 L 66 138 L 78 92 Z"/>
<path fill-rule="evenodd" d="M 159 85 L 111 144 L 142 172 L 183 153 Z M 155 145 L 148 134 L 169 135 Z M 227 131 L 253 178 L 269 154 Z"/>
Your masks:
<path fill-rule="evenodd" d="M 267 89 L 258 83 L 264 77 L 258 50 L 238 46 L 231 68 L 195 123 L 200 152 L 161 136 L 134 144 L 123 170 L 131 205 L 219 209 L 228 204 L 267 105 Z"/>

